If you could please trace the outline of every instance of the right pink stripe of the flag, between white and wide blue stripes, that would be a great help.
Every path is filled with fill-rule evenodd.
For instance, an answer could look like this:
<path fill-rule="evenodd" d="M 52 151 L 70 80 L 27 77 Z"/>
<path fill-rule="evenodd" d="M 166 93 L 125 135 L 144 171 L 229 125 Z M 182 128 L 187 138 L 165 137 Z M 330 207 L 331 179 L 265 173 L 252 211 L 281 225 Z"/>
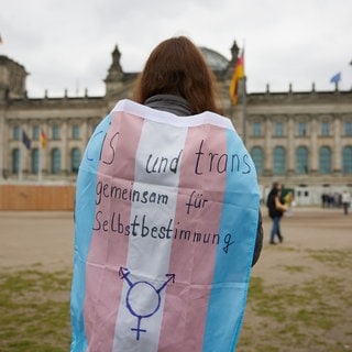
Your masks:
<path fill-rule="evenodd" d="M 215 138 L 217 133 L 222 135 Z M 219 155 L 211 161 L 209 153 Z M 224 158 L 219 158 L 222 153 L 227 153 L 226 130 L 189 128 L 169 263 L 169 272 L 176 277 L 166 290 L 160 351 L 202 348 L 226 187 L 226 173 L 219 172 L 223 169 Z"/>

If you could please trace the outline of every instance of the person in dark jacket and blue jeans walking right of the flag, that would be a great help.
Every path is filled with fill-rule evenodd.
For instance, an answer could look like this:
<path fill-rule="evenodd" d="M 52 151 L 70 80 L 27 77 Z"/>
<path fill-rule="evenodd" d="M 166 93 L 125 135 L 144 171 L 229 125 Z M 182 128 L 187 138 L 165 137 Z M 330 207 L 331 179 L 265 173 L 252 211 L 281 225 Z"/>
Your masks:
<path fill-rule="evenodd" d="M 284 241 L 284 237 L 280 231 L 280 220 L 284 212 L 287 210 L 287 206 L 282 202 L 282 184 L 276 182 L 273 183 L 272 189 L 267 196 L 266 206 L 268 209 L 268 216 L 273 221 L 270 244 L 276 244 L 276 235 L 279 243 L 282 243 Z"/>

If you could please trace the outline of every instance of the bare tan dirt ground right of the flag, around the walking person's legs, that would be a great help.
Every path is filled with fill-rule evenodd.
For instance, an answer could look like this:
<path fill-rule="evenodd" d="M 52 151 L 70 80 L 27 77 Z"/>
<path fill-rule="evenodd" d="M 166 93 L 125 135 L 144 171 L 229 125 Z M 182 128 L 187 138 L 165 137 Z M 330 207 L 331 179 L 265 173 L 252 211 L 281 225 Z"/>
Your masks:
<path fill-rule="evenodd" d="M 282 265 L 309 266 L 310 271 L 301 275 L 316 277 L 320 274 L 321 268 L 310 265 L 311 260 L 300 255 L 301 252 L 352 250 L 352 213 L 345 216 L 342 209 L 295 208 L 292 216 L 282 219 L 284 242 L 277 245 L 268 244 L 272 222 L 266 209 L 263 208 L 262 212 L 264 248 L 252 275 L 263 277 L 267 284 L 279 284 L 287 279 L 287 272 L 282 270 Z M 338 275 L 333 267 L 330 270 Z M 302 279 L 301 275 L 298 276 L 299 280 Z M 292 279 L 294 276 L 290 276 Z"/>

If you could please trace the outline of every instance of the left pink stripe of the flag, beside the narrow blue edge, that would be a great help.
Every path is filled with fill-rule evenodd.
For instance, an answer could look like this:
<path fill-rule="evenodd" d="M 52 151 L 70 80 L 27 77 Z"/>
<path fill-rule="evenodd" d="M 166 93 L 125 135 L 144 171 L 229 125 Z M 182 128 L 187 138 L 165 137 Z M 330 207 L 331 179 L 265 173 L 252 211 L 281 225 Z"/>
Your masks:
<path fill-rule="evenodd" d="M 142 127 L 142 119 L 113 112 L 102 146 L 96 219 L 86 271 L 85 328 L 90 351 L 112 350 L 123 286 L 119 270 L 125 267 L 128 254 L 129 195 L 133 190 L 134 156 Z M 117 197 L 117 189 L 125 189 L 122 200 Z"/>

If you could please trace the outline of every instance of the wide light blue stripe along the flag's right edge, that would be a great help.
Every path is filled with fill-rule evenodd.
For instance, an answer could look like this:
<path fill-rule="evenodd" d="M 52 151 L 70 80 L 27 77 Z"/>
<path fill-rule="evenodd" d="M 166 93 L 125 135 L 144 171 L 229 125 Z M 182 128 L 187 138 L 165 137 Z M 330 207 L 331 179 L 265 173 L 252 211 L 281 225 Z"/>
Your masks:
<path fill-rule="evenodd" d="M 245 166 L 242 169 L 251 168 L 251 172 L 227 175 L 219 229 L 221 244 L 217 250 L 204 352 L 234 351 L 246 304 L 258 221 L 260 196 L 254 164 L 239 136 L 232 131 L 227 134 L 228 153 L 238 154 L 239 162 Z M 228 249 L 224 242 L 230 244 Z"/>

